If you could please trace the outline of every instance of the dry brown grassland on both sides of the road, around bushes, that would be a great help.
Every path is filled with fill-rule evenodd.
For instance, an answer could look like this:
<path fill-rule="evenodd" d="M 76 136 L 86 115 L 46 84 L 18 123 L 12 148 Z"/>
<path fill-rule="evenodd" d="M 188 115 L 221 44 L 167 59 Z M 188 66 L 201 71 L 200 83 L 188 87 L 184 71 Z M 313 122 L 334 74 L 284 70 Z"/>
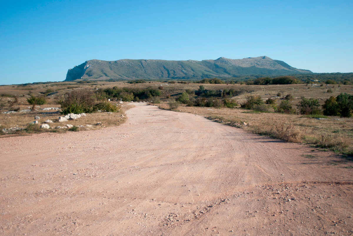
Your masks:
<path fill-rule="evenodd" d="M 13 108 L 19 110 L 29 109 L 31 105 L 26 101 L 30 95 L 42 95 L 46 91 L 56 92 L 53 95 L 47 96 L 47 103 L 36 107 L 35 111 L 18 112 L 12 114 L 0 113 L 0 124 L 2 128 L 10 128 L 14 126 L 26 127 L 29 122 L 34 121 L 34 116 L 41 116 L 40 123 L 50 119 L 57 120 L 60 114 L 54 110 L 46 111 L 40 110 L 46 107 L 58 107 L 58 101 L 62 96 L 76 89 L 89 89 L 96 91 L 97 89 L 104 89 L 108 87 L 136 87 L 146 88 L 151 86 L 153 88 L 160 87 L 161 104 L 158 104 L 163 109 L 168 109 L 167 102 L 170 99 L 178 97 L 186 89 L 198 90 L 201 84 L 183 84 L 183 83 L 166 83 L 166 82 L 150 82 L 143 84 L 128 84 L 126 82 L 107 82 L 97 81 L 94 83 L 76 83 L 60 82 L 49 84 L 37 84 L 27 86 L 6 85 L 0 86 L 0 97 L 2 102 L 13 100 L 14 96 L 18 101 L 13 105 Z M 260 95 L 262 99 L 274 98 L 276 103 L 279 103 L 286 95 L 291 94 L 293 99 L 291 103 L 295 108 L 300 101 L 300 97 L 316 98 L 322 105 L 330 96 L 337 96 L 340 93 L 353 93 L 352 85 L 323 85 L 319 84 L 295 84 L 295 85 L 241 85 L 241 84 L 202 84 L 207 90 L 221 90 L 233 89 L 236 96 L 231 97 L 232 100 L 239 104 L 246 100 L 246 96 Z M 331 92 L 328 92 L 331 91 Z M 278 93 L 282 97 L 277 97 Z M 145 99 L 149 101 L 152 99 Z M 112 100 L 113 101 L 113 100 Z M 121 117 L 121 113 L 107 114 L 107 113 L 92 113 L 86 117 L 71 121 L 72 125 L 94 125 L 102 122 L 103 126 L 116 126 L 124 122 L 125 117 Z M 9 109 L 3 109 L 7 111 Z M 181 105 L 177 111 L 194 113 L 207 117 L 208 119 L 222 122 L 227 125 L 243 128 L 257 134 L 269 135 L 271 137 L 280 138 L 286 141 L 307 143 L 317 145 L 323 149 L 333 150 L 348 155 L 353 154 L 353 119 L 342 117 L 329 117 L 330 119 L 317 120 L 310 116 L 303 116 L 298 114 L 279 114 L 279 113 L 260 113 L 240 108 L 207 108 L 207 107 L 186 107 Z M 123 119 L 121 119 L 123 118 Z M 244 125 L 244 122 L 247 125 Z M 250 125 L 249 125 L 250 124 Z M 51 127 L 59 126 L 61 123 L 55 122 L 49 124 Z M 93 126 L 92 128 L 99 128 L 101 126 Z"/>

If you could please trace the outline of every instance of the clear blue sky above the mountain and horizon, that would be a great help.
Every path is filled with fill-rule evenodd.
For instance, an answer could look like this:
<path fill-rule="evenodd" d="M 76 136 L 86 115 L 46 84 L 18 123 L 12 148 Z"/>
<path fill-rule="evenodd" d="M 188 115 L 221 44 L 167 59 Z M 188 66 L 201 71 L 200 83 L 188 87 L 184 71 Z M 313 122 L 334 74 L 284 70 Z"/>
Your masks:
<path fill-rule="evenodd" d="M 353 1 L 3 1 L 0 84 L 65 80 L 87 60 L 269 56 L 353 72 Z"/>

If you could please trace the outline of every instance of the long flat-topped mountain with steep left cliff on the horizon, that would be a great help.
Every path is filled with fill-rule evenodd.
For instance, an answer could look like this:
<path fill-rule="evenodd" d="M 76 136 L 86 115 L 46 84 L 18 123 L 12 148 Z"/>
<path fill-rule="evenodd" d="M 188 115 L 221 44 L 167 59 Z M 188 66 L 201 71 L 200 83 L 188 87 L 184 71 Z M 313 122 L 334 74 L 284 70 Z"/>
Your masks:
<path fill-rule="evenodd" d="M 277 76 L 312 73 L 267 56 L 202 61 L 89 60 L 69 69 L 65 81 L 76 79 L 202 79 L 247 75 Z"/>

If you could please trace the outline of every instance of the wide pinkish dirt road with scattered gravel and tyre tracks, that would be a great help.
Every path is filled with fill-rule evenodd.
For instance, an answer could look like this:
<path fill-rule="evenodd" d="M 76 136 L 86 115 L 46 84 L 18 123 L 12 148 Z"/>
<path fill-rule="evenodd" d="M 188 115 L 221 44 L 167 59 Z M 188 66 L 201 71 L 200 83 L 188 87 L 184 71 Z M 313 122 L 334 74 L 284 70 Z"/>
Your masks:
<path fill-rule="evenodd" d="M 0 234 L 353 234 L 353 170 L 333 153 L 143 103 L 127 116 L 1 138 Z"/>

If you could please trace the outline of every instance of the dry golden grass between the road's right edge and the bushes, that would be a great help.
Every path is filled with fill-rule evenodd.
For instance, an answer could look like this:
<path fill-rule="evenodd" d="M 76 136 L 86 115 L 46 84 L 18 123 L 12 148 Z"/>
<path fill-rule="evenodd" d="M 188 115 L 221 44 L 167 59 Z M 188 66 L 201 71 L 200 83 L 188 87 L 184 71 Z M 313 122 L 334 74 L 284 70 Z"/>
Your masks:
<path fill-rule="evenodd" d="M 166 103 L 156 104 L 169 109 Z M 204 116 L 225 125 L 243 128 L 256 134 L 268 135 L 295 143 L 313 144 L 324 149 L 353 155 L 353 119 L 317 120 L 295 114 L 249 112 L 245 109 L 186 107 L 180 105 L 182 112 Z M 243 125 L 247 123 L 247 126 Z"/>

